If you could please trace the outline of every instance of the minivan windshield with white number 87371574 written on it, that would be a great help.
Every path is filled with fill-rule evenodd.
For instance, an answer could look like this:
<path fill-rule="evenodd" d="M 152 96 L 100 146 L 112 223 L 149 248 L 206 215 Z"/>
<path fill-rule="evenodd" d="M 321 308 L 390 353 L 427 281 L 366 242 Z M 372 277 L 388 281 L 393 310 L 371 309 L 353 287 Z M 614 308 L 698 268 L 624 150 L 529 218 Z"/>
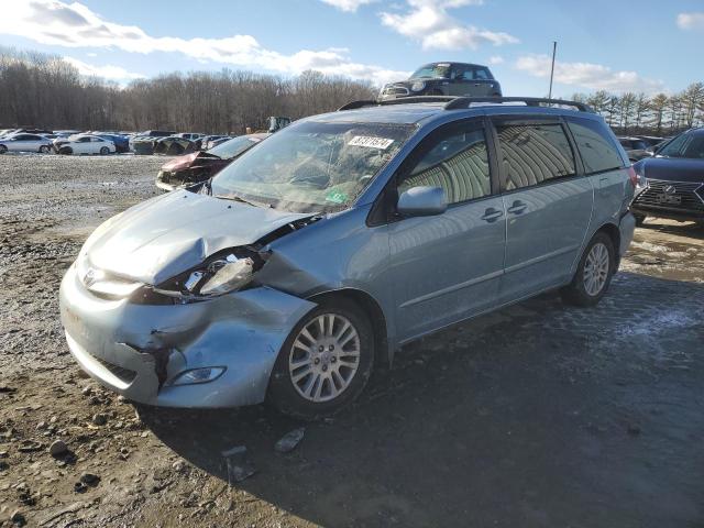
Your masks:
<path fill-rule="evenodd" d="M 211 191 L 289 211 L 340 210 L 352 204 L 414 131 L 408 124 L 292 124 L 220 172 Z"/>

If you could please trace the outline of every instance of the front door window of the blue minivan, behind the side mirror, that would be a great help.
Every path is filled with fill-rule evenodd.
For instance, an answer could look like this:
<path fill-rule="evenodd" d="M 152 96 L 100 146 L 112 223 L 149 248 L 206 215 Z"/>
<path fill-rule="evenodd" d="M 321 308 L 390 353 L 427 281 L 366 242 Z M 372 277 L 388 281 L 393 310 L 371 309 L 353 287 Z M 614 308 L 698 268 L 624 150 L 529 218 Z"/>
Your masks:
<path fill-rule="evenodd" d="M 411 187 L 441 187 L 448 204 L 491 194 L 484 130 L 451 127 L 425 145 L 425 154 L 399 183 L 398 194 Z"/>

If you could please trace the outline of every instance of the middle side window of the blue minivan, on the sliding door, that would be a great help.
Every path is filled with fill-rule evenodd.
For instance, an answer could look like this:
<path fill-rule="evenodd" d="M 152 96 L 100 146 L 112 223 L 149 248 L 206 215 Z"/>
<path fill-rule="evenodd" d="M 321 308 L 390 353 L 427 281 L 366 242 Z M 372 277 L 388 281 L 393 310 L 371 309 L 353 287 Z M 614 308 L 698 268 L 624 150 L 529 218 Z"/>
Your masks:
<path fill-rule="evenodd" d="M 570 142 L 560 124 L 496 127 L 506 190 L 576 174 Z"/>

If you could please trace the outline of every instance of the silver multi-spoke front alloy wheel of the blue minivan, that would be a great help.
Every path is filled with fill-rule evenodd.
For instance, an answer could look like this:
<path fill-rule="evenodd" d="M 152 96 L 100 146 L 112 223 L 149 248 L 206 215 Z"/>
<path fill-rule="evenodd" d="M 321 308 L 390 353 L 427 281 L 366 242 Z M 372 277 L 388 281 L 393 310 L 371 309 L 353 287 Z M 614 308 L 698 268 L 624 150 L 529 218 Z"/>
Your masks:
<path fill-rule="evenodd" d="M 322 314 L 299 332 L 288 355 L 296 392 L 309 402 L 329 402 L 352 383 L 360 366 L 360 336 L 339 314 Z"/>

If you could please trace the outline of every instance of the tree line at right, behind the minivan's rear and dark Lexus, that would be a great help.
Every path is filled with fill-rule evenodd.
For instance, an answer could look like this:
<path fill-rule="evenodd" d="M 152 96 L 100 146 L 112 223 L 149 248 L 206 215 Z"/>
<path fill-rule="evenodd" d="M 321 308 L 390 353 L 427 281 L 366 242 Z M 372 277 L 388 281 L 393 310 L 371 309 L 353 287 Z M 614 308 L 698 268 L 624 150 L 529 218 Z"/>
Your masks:
<path fill-rule="evenodd" d="M 673 95 L 600 90 L 574 94 L 572 99 L 590 105 L 620 134 L 674 135 L 704 124 L 704 82 L 693 82 Z"/>

